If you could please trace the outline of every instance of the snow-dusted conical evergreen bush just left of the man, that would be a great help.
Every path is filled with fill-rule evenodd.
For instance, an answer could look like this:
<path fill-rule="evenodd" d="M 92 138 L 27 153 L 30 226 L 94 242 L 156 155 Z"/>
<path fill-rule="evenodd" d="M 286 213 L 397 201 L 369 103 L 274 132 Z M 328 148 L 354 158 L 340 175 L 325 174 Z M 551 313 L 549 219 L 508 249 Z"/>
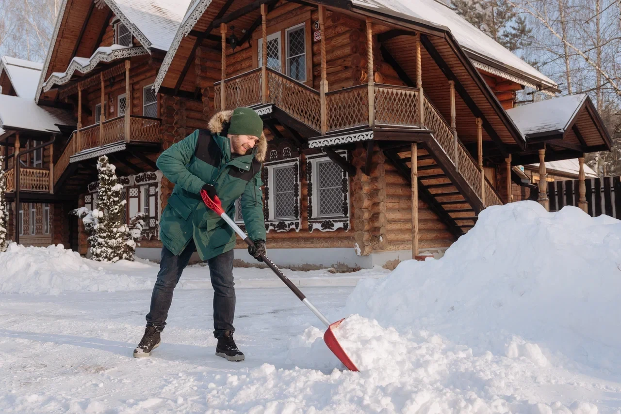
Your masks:
<path fill-rule="evenodd" d="M 91 211 L 82 207 L 73 211 L 82 219 L 84 230 L 89 234 L 91 258 L 99 262 L 134 260 L 136 240 L 140 239 L 144 227 L 143 213 L 136 214 L 129 225 L 123 224 L 123 208 L 127 201 L 122 200 L 123 186 L 117 182 L 115 170 L 106 156 L 99 157 L 97 208 Z"/>

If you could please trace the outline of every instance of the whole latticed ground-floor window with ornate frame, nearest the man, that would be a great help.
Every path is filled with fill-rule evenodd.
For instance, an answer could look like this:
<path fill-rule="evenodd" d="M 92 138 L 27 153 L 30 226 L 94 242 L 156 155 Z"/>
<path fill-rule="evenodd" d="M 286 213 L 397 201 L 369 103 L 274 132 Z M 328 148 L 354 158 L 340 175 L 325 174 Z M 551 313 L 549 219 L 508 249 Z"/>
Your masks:
<path fill-rule="evenodd" d="M 263 166 L 265 230 L 300 229 L 300 159 L 266 162 Z"/>

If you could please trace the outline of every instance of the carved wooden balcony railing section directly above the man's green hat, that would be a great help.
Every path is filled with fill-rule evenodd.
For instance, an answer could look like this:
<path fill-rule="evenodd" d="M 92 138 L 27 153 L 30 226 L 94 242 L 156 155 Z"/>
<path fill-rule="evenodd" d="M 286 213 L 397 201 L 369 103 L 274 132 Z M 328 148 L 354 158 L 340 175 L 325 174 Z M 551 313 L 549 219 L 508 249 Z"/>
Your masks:
<path fill-rule="evenodd" d="M 222 81 L 214 84 L 215 109 L 220 110 Z M 261 68 L 252 69 L 224 81 L 224 109 L 250 107 L 261 103 Z"/>

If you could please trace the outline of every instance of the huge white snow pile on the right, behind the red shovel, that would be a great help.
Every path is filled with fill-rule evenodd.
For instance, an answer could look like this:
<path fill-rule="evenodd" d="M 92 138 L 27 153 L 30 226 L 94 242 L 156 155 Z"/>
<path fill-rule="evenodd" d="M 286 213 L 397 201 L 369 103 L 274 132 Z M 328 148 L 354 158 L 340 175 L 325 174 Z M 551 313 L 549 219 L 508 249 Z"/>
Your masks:
<path fill-rule="evenodd" d="M 620 263 L 621 221 L 522 201 L 484 210 L 441 260 L 362 281 L 347 311 L 479 354 L 619 372 Z"/>

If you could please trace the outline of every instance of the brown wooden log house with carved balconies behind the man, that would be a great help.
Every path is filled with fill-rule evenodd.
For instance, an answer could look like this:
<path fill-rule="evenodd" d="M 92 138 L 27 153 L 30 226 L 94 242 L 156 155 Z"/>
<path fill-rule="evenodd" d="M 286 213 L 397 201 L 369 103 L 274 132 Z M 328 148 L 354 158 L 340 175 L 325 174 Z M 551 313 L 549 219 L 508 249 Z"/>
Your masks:
<path fill-rule="evenodd" d="M 270 140 L 264 211 L 281 265 L 369 267 L 441 253 L 481 210 L 512 201 L 514 165 L 539 162 L 545 177 L 546 160 L 610 149 L 588 97 L 562 125 L 515 121 L 517 90 L 555 94 L 556 84 L 433 0 L 415 11 L 400 0 L 398 12 L 382 0 L 193 0 L 172 33 L 162 26 L 157 47 L 158 11 L 141 19 L 122 1 L 64 4 L 37 95 L 71 103 L 78 118 L 55 193 L 94 206 L 94 161 L 109 154 L 128 177 L 128 216 L 147 207 L 156 229 L 172 190 L 155 171 L 158 153 L 215 112 L 250 106 Z M 150 83 L 157 112 L 143 118 Z M 120 112 L 124 93 L 132 105 Z M 546 102 L 550 117 L 568 106 Z M 145 175 L 152 181 L 141 186 Z M 158 257 L 155 233 L 139 255 Z"/>

